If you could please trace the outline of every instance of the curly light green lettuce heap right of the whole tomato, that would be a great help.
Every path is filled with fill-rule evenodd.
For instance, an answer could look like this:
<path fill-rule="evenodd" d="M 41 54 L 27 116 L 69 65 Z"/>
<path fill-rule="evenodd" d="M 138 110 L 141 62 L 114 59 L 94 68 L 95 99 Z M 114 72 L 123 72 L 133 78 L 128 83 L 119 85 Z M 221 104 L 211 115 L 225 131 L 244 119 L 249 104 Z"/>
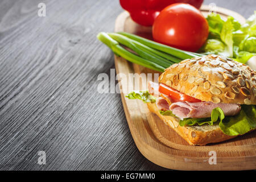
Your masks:
<path fill-rule="evenodd" d="M 232 16 L 225 21 L 218 14 L 208 15 L 209 36 L 200 52 L 233 57 L 238 62 L 246 63 L 256 54 L 255 17 L 256 11 L 241 25 Z"/>

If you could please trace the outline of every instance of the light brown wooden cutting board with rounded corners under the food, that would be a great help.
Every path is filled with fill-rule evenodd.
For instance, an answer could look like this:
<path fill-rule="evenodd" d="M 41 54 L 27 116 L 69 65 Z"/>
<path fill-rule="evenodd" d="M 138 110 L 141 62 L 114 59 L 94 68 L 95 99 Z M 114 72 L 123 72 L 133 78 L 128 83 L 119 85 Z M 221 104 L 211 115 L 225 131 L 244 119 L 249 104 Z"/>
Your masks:
<path fill-rule="evenodd" d="M 210 7 L 203 5 L 207 16 Z M 245 18 L 233 11 L 216 7 L 224 19 L 232 15 L 239 22 Z M 125 31 L 151 38 L 151 28 L 143 27 L 131 20 L 129 13 L 121 13 L 115 22 L 115 32 Z M 170 169 L 181 170 L 244 170 L 256 169 L 256 132 L 207 146 L 189 146 L 174 130 L 164 124 L 157 115 L 150 113 L 147 105 L 139 100 L 129 100 L 125 95 L 131 90 L 146 90 L 147 81 L 158 77 L 159 72 L 132 64 L 115 56 L 115 69 L 121 92 L 123 109 L 134 142 L 139 151 L 151 162 Z M 131 75 L 130 73 L 138 73 Z M 152 79 L 144 79 L 143 73 L 153 73 Z M 140 74 L 140 75 L 139 75 Z M 155 75 L 154 75 L 155 74 Z M 133 77 L 134 76 L 134 77 Z M 146 77 L 147 78 L 147 77 Z M 210 151 L 216 152 L 216 164 L 210 164 Z"/>

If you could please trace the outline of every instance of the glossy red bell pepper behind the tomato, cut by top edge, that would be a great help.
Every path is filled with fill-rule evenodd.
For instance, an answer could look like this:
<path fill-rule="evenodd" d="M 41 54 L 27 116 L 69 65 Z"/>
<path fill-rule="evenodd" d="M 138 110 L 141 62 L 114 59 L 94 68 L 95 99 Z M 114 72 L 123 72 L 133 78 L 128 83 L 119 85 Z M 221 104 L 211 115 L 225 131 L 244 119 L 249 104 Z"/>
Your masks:
<path fill-rule="evenodd" d="M 156 16 L 164 7 L 173 3 L 189 3 L 200 8 L 204 0 L 120 0 L 123 9 L 129 11 L 131 19 L 143 26 L 152 26 Z"/>

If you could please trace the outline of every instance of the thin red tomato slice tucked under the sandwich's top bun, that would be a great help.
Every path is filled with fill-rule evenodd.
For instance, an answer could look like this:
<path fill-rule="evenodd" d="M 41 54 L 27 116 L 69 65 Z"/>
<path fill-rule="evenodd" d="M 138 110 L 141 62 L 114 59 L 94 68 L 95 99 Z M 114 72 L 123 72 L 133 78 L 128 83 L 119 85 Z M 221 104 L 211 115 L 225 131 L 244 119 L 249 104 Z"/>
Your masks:
<path fill-rule="evenodd" d="M 201 100 L 197 98 L 190 97 L 184 93 L 179 92 L 178 90 L 172 89 L 167 85 L 164 85 L 162 83 L 159 84 L 159 92 L 162 94 L 165 94 L 167 96 L 170 96 L 172 98 L 175 98 L 179 101 L 187 101 L 187 102 L 201 102 Z"/>

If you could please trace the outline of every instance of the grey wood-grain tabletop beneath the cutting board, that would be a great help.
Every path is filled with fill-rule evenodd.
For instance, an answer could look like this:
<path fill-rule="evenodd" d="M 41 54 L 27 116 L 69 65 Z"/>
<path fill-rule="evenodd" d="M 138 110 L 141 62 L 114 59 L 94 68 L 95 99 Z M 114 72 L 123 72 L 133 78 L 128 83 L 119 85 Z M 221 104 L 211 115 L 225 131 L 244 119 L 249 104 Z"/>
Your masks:
<path fill-rule="evenodd" d="M 131 137 L 119 94 L 97 92 L 114 68 L 96 39 L 123 10 L 117 0 L 0 1 L 0 169 L 159 170 Z M 205 1 L 248 18 L 255 0 Z M 46 164 L 38 164 L 38 152 Z"/>

